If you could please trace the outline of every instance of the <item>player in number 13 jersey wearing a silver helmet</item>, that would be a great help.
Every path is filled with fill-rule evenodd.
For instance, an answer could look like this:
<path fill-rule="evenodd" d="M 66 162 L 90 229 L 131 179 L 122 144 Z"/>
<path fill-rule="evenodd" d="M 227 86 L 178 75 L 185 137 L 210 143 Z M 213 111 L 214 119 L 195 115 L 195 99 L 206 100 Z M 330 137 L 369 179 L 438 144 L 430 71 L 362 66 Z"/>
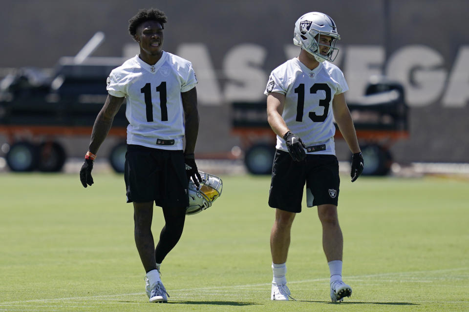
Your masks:
<path fill-rule="evenodd" d="M 348 90 L 341 70 L 331 62 L 337 56 L 337 26 L 327 15 L 311 12 L 295 23 L 294 43 L 301 47 L 298 58 L 287 60 L 269 77 L 267 116 L 277 134 L 269 206 L 275 208 L 270 235 L 272 253 L 272 300 L 289 300 L 286 260 L 290 229 L 301 212 L 306 183 L 307 206 L 318 206 L 322 224 L 322 247 L 330 269 L 333 302 L 350 296 L 352 289 L 342 281 L 342 232 L 337 215 L 339 164 L 335 156 L 337 122 L 353 153 L 351 177 L 363 171 L 363 158 L 352 117 L 345 102 Z M 293 298 L 292 298 L 293 299 Z"/>

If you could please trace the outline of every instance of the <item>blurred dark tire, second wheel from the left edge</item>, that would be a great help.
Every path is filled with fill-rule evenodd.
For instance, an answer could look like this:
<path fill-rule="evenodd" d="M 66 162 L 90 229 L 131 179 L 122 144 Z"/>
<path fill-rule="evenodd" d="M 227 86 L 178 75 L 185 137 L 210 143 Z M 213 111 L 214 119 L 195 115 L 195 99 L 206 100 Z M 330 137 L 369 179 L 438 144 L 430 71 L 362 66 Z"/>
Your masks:
<path fill-rule="evenodd" d="M 42 172 L 59 172 L 67 158 L 65 150 L 57 142 L 43 142 L 38 148 L 38 170 Z"/>

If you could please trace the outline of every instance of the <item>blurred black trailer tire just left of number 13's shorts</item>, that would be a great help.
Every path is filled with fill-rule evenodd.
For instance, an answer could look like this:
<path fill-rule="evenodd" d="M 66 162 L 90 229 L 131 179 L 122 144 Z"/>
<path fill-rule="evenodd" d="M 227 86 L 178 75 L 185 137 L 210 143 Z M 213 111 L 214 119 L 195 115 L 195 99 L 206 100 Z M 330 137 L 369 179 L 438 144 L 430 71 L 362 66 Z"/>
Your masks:
<path fill-rule="evenodd" d="M 275 147 L 267 144 L 256 144 L 250 147 L 244 155 L 246 169 L 253 175 L 272 174 Z"/>

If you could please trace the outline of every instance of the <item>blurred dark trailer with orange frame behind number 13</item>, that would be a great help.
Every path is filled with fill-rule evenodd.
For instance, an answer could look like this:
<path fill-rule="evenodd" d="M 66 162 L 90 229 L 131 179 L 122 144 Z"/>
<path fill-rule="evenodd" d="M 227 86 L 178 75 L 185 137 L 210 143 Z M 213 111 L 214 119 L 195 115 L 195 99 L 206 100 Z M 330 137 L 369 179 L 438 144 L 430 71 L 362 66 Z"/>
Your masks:
<path fill-rule="evenodd" d="M 392 164 L 389 147 L 409 135 L 403 86 L 375 79 L 359 103 L 347 106 L 362 149 L 363 175 L 387 175 Z M 267 122 L 266 102 L 234 102 L 232 116 L 232 134 L 241 139 L 246 169 L 255 175 L 271 174 L 276 135 Z M 337 125 L 335 138 L 343 138 Z"/>

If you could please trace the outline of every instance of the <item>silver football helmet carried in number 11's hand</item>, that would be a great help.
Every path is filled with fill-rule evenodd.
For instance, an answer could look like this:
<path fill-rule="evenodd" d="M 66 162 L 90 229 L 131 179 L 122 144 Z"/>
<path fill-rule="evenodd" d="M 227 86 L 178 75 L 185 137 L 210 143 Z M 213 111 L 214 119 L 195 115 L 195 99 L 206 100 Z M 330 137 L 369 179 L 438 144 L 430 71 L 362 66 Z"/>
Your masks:
<path fill-rule="evenodd" d="M 186 215 L 195 215 L 209 208 L 221 195 L 223 182 L 218 176 L 209 175 L 200 170 L 199 174 L 202 178 L 199 188 L 195 186 L 192 179 L 189 180 L 189 207 L 186 208 Z"/>

